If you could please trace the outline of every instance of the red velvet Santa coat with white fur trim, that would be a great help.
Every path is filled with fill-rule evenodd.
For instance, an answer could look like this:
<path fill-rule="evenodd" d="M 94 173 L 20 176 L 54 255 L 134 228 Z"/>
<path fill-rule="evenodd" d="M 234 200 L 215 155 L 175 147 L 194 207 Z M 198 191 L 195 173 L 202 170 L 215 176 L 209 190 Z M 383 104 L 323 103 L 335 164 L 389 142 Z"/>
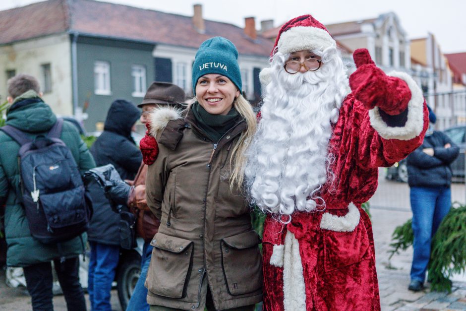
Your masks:
<path fill-rule="evenodd" d="M 404 73 L 393 75 L 409 88 L 397 94 L 410 97 L 402 114 L 368 111 L 352 93 L 344 100 L 329 143 L 335 180 L 321 193 L 325 211 L 294 213 L 288 225 L 267 217 L 264 310 L 380 310 L 372 228 L 360 206 L 377 188 L 378 167 L 405 158 L 428 127 L 415 82 Z"/>

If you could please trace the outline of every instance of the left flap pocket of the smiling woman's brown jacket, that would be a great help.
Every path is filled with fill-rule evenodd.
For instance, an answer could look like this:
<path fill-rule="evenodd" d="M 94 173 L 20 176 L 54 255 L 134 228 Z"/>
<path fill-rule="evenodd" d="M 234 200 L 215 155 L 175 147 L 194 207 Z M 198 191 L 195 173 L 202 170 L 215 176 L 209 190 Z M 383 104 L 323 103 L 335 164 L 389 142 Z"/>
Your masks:
<path fill-rule="evenodd" d="M 193 243 L 158 232 L 145 286 L 154 294 L 180 299 L 186 296 L 192 268 Z"/>

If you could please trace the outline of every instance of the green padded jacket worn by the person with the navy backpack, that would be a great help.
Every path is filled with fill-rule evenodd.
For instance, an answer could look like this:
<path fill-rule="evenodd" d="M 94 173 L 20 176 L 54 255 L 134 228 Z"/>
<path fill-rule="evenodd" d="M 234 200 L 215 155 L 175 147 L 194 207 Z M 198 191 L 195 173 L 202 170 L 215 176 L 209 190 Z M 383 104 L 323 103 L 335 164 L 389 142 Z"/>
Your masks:
<path fill-rule="evenodd" d="M 50 107 L 32 90 L 15 99 L 6 118 L 6 124 L 29 133 L 31 137 L 47 133 L 57 121 Z M 71 150 L 81 172 L 95 167 L 92 155 L 73 124 L 63 123 L 60 138 Z M 24 208 L 16 196 L 16 193 L 20 193 L 19 147 L 16 141 L 0 131 L 0 208 L 5 208 L 6 264 L 24 267 L 60 256 L 72 257 L 83 253 L 85 233 L 60 243 L 60 251 L 56 244 L 45 245 L 31 236 Z"/>

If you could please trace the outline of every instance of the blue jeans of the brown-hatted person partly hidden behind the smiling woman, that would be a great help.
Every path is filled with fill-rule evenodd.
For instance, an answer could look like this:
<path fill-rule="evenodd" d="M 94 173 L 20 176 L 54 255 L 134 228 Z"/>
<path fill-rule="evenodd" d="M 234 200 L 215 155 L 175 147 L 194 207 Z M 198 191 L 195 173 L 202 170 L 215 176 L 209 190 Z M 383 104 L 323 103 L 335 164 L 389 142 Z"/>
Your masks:
<path fill-rule="evenodd" d="M 142 247 L 142 258 L 141 258 L 141 275 L 139 280 L 134 287 L 131 299 L 128 302 L 126 311 L 149 311 L 149 304 L 147 303 L 147 288 L 144 286 L 146 281 L 147 270 L 149 269 L 149 263 L 151 262 L 153 247 L 150 242 L 144 242 Z"/>

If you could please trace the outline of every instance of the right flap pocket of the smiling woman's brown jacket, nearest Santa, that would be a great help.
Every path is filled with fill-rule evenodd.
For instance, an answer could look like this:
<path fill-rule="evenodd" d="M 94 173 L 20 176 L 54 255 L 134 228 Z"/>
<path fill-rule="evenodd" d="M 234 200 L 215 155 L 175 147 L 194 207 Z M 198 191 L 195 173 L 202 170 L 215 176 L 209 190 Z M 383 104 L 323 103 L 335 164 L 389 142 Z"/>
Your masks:
<path fill-rule="evenodd" d="M 255 231 L 222 239 L 222 268 L 230 295 L 243 295 L 261 289 L 260 243 L 261 239 Z"/>

